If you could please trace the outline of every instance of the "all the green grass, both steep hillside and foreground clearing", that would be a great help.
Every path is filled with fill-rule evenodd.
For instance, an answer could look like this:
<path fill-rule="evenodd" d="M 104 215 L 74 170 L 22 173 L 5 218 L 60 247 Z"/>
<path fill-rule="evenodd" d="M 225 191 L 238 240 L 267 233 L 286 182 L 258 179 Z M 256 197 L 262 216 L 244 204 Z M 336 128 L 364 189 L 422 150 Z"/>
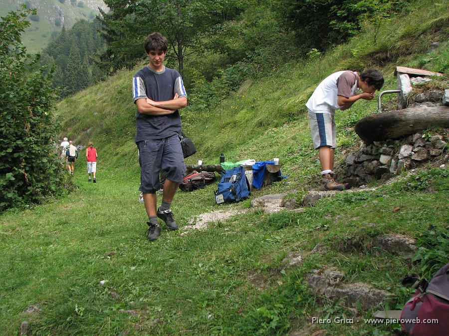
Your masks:
<path fill-rule="evenodd" d="M 442 16 L 446 33 L 438 19 Z M 352 50 L 341 46 L 322 59 L 288 64 L 271 77 L 248 82 L 246 90 L 232 95 L 216 111 L 202 115 L 183 111 L 184 128 L 199 149 L 188 163 L 198 159 L 217 163 L 221 152 L 231 161 L 280 157 L 282 173 L 289 178 L 254 196 L 287 191 L 300 198 L 319 167 L 303 107 L 316 84 L 341 68 L 368 65 L 369 59 L 385 62 L 385 50 L 402 55 L 397 64 L 404 66 L 422 65 L 423 59 L 433 58 L 427 65 L 431 67 L 448 44 L 443 42 L 431 54 L 424 53 L 425 47 L 431 38 L 447 40 L 447 17 L 447 6 L 437 4 L 412 11 L 407 22 L 392 21 L 381 32 L 377 46 L 368 30 L 353 40 Z M 433 29 L 437 33 L 422 28 L 430 19 L 439 27 Z M 424 34 L 420 35 L 420 29 Z M 405 45 L 404 36 L 414 43 Z M 385 89 L 395 88 L 395 65 L 382 64 Z M 81 159 L 75 170 L 78 190 L 50 204 L 0 217 L 0 263 L 4 265 L 0 326 L 6 335 L 13 334 L 25 319 L 38 334 L 252 335 L 301 329 L 311 317 L 352 316 L 344 305 L 320 306 L 310 295 L 305 276 L 320 265 L 344 271 L 345 282 L 365 281 L 391 291 L 392 308 L 410 295 L 401 288 L 400 279 L 412 270 L 419 272 L 416 266 L 369 248 L 354 250 L 349 242 L 369 240 L 379 232 L 426 237 L 428 224 L 434 224 L 437 232 L 445 229 L 449 182 L 441 171 L 422 176 L 435 193 L 413 184 L 407 189 L 401 183 L 377 192 L 342 193 L 302 213 L 266 216 L 256 210 L 206 231 L 180 236 L 164 230 L 156 242 L 146 241 L 145 212 L 137 203 L 131 76 L 119 73 L 58 106 L 64 120 L 62 135 L 76 143 L 92 139 L 98 148 L 99 182 L 86 182 Z M 339 113 L 339 160 L 341 149 L 358 142 L 350 126 L 375 110 L 375 102 L 358 102 Z M 193 216 L 219 209 L 214 188 L 177 194 L 173 207 L 181 226 Z M 248 205 L 245 201 L 220 209 Z M 397 206 L 401 211 L 393 213 Z M 327 246 L 327 252 L 308 255 L 317 243 Z M 290 251 L 305 256 L 304 264 L 284 269 L 282 259 Z M 447 255 L 440 257 L 447 259 Z M 101 280 L 106 280 L 102 287 Z M 23 313 L 30 305 L 37 305 L 39 312 Z M 135 315 L 121 310 L 134 310 Z M 321 328 L 332 335 L 392 331 L 391 326 L 363 323 Z"/>

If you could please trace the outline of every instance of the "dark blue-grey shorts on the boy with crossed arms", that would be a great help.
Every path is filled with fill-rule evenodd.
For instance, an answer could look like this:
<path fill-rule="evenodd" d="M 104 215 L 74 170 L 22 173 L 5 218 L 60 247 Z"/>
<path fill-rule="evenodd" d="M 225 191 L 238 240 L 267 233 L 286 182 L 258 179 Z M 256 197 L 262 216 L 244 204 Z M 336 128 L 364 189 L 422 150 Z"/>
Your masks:
<path fill-rule="evenodd" d="M 176 183 L 183 181 L 186 173 L 183 150 L 177 134 L 163 139 L 142 140 L 139 148 L 140 188 L 145 194 L 160 189 L 159 172 L 165 170 L 167 179 Z"/>

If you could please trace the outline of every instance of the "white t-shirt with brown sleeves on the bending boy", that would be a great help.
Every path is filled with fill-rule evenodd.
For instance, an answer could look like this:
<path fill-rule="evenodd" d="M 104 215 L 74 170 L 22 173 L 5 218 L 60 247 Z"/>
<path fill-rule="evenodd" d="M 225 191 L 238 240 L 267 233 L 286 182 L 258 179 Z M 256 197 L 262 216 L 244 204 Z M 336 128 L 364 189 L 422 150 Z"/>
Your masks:
<path fill-rule="evenodd" d="M 347 77 L 346 79 L 349 79 L 351 81 L 350 87 L 348 88 L 350 89 L 350 92 L 342 94 L 339 90 L 339 87 L 337 87 L 337 81 L 339 77 L 346 72 L 348 72 L 348 74 L 345 74 L 345 77 Z M 314 113 L 334 114 L 335 110 L 339 110 L 341 108 L 341 106 L 337 104 L 338 95 L 352 97 L 359 91 L 357 79 L 358 74 L 356 72 L 348 70 L 338 71 L 326 77 L 318 85 L 312 96 L 307 101 L 307 109 Z M 346 80 L 344 84 L 347 87 L 348 81 Z"/>

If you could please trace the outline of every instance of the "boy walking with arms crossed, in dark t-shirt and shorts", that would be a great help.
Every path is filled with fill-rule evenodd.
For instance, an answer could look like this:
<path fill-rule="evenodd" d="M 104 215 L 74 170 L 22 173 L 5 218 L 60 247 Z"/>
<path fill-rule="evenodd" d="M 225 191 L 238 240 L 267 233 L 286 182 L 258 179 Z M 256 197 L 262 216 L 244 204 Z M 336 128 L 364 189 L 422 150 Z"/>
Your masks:
<path fill-rule="evenodd" d="M 164 66 L 167 49 L 167 38 L 161 33 L 148 35 L 145 52 L 149 64 L 134 75 L 132 85 L 137 106 L 134 142 L 139 148 L 139 190 L 148 215 L 149 240 L 157 239 L 161 233 L 158 217 L 169 229 L 178 228 L 170 207 L 186 172 L 178 110 L 187 106 L 187 93 L 178 71 Z M 167 172 L 167 180 L 161 206 L 156 209 L 161 169 Z"/>

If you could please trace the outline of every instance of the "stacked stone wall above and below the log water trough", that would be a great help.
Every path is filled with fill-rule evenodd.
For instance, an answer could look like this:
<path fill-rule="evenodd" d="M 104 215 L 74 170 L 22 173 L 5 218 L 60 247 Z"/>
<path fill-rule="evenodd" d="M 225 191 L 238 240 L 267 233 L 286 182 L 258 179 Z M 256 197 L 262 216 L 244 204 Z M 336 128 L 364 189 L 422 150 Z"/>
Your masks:
<path fill-rule="evenodd" d="M 412 85 L 419 87 L 431 81 L 421 77 L 410 80 L 408 75 L 405 76 L 407 80 L 402 82 L 406 83 L 406 88 L 399 86 L 399 76 L 398 87 L 402 91 L 406 90 L 408 95 L 412 91 Z M 401 102 L 401 97 L 399 101 Z M 423 91 L 412 100 L 406 97 L 402 104 L 407 105 L 407 108 L 449 105 L 449 90 Z M 386 181 L 404 170 L 418 168 L 429 162 L 434 166 L 441 166 L 448 162 L 448 142 L 449 129 L 431 135 L 418 132 L 402 139 L 375 141 L 346 156 L 345 165 L 336 170 L 336 178 L 350 183 L 353 187 L 363 187 L 373 180 Z"/>

